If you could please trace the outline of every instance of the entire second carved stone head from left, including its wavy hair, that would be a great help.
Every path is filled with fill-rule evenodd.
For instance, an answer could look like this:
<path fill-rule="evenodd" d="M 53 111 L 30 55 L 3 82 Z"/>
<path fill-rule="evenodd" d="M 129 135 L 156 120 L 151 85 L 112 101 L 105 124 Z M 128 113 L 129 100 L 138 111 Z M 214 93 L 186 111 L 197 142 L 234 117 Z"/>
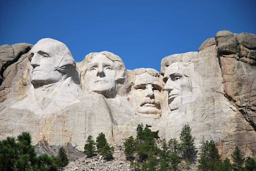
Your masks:
<path fill-rule="evenodd" d="M 115 97 L 118 79 L 126 71 L 121 58 L 110 52 L 94 53 L 87 57 L 90 59 L 87 59 L 85 72 L 86 91 Z"/>

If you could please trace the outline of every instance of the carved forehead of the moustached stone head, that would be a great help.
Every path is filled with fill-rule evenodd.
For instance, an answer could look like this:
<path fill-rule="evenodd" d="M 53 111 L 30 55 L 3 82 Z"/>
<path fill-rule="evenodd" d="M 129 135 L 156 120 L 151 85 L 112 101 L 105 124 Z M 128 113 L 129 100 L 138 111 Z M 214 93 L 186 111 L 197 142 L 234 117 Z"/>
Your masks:
<path fill-rule="evenodd" d="M 144 72 L 140 75 L 136 75 L 134 85 L 140 85 L 140 84 L 155 84 L 162 87 L 162 79 L 160 79 L 157 76 L 152 76 L 147 72 Z"/>

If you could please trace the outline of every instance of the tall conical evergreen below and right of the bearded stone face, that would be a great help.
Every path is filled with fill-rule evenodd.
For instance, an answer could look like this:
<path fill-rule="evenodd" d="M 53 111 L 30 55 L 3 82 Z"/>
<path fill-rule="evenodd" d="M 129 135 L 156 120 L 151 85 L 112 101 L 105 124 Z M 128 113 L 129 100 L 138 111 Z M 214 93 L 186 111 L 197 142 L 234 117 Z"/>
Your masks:
<path fill-rule="evenodd" d="M 192 137 L 191 128 L 188 125 L 184 125 L 182 128 L 180 141 L 182 157 L 193 162 L 196 158 L 197 150 L 194 145 L 195 137 Z"/>

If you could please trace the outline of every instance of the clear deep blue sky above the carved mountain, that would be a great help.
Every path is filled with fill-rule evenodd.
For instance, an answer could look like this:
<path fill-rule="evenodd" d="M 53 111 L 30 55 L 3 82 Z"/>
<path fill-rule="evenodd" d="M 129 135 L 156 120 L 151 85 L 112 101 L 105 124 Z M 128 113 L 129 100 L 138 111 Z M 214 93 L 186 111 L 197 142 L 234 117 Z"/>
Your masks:
<path fill-rule="evenodd" d="M 163 57 L 198 51 L 220 30 L 255 34 L 256 1 L 2 0 L 0 23 L 0 45 L 53 38 L 77 62 L 107 50 L 127 69 L 160 71 Z"/>

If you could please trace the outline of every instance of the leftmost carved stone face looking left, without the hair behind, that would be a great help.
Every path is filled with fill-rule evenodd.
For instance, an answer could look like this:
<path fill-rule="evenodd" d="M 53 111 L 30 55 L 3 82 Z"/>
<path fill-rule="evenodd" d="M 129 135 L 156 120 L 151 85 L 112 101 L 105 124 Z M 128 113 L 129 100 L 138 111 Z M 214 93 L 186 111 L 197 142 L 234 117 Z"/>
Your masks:
<path fill-rule="evenodd" d="M 31 49 L 29 56 L 31 83 L 47 85 L 60 81 L 63 78 L 63 73 L 55 68 L 60 63 L 60 57 L 51 41 L 45 39 L 38 41 Z"/>

